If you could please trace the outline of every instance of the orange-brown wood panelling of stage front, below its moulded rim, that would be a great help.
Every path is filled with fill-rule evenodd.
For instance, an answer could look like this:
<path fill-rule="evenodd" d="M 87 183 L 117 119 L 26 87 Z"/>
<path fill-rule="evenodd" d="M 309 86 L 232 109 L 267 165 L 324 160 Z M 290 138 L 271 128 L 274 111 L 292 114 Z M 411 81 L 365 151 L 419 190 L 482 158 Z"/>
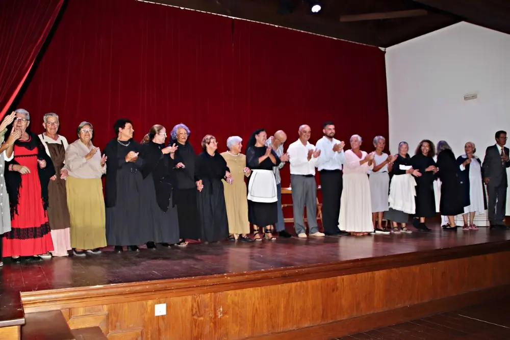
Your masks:
<path fill-rule="evenodd" d="M 510 251 L 343 276 L 165 296 L 97 296 L 100 304 L 64 310 L 71 328 L 100 326 L 110 339 L 242 339 L 361 317 L 510 284 Z M 140 284 L 143 284 L 142 282 Z M 190 290 L 192 291 L 192 290 Z M 200 291 L 196 287 L 196 291 Z M 119 301 L 123 301 L 118 303 Z M 85 303 L 85 301 L 78 301 Z M 88 301 L 88 303 L 92 303 Z M 155 317 L 155 304 L 166 316 Z M 58 306 L 55 301 L 52 306 Z M 48 308 L 51 306 L 48 305 Z M 31 308 L 42 306 L 27 306 Z M 96 315 L 94 315 L 96 313 Z"/>

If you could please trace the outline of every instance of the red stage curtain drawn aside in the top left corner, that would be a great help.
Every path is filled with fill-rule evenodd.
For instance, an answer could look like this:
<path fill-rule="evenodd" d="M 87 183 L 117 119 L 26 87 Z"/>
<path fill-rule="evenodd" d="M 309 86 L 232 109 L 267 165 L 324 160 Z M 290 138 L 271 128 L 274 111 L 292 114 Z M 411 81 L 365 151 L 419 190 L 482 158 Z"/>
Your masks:
<path fill-rule="evenodd" d="M 63 2 L 0 1 L 0 117 L 23 85 Z"/>

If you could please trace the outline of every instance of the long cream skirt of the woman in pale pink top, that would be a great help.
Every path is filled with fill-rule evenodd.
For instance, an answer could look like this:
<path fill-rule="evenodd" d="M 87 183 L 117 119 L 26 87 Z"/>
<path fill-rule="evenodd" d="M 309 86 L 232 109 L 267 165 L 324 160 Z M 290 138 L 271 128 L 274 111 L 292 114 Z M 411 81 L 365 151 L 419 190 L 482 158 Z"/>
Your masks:
<path fill-rule="evenodd" d="M 368 176 L 364 173 L 344 173 L 343 180 L 339 229 L 347 232 L 373 232 Z"/>

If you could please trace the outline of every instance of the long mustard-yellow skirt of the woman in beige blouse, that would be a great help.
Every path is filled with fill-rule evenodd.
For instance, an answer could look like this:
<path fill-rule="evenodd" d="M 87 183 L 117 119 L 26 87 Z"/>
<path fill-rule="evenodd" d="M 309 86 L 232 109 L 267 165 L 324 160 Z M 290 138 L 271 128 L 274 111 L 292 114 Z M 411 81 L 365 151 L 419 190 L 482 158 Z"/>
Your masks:
<path fill-rule="evenodd" d="M 101 179 L 69 176 L 66 192 L 71 219 L 71 247 L 82 250 L 106 247 L 105 198 Z"/>

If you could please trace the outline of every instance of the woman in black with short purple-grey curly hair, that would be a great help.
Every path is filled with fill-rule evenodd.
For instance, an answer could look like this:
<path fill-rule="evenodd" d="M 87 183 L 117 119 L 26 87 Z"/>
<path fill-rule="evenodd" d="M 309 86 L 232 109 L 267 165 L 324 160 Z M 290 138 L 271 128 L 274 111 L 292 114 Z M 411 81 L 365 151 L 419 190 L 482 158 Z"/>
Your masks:
<path fill-rule="evenodd" d="M 170 133 L 169 145 L 175 144 L 175 186 L 174 203 L 179 217 L 179 237 L 177 246 L 186 246 L 186 239 L 199 240 L 201 237 L 200 219 L 195 181 L 196 154 L 188 138 L 191 134 L 188 126 L 177 124 Z"/>

